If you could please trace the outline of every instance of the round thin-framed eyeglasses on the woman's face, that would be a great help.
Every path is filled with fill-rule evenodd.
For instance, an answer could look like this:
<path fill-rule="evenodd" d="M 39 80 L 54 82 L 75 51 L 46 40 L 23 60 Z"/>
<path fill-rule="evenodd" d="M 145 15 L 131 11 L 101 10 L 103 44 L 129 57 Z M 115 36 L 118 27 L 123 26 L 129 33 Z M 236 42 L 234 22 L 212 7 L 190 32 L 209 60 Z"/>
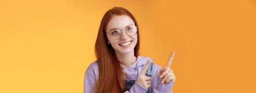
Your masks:
<path fill-rule="evenodd" d="M 121 36 L 121 31 L 124 29 L 111 29 L 108 34 L 110 35 L 111 39 L 118 40 Z M 137 27 L 135 25 L 129 25 L 125 27 L 125 33 L 129 36 L 133 36 L 137 33 Z"/>

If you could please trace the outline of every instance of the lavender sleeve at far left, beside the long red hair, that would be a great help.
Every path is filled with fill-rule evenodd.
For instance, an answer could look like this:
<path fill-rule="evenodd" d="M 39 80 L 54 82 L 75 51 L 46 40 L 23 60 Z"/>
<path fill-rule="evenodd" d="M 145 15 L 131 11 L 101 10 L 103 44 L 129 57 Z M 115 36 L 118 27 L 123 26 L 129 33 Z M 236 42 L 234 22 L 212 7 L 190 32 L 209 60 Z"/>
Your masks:
<path fill-rule="evenodd" d="M 94 73 L 86 70 L 84 75 L 84 88 L 83 93 L 94 93 L 96 86 L 96 76 Z"/>

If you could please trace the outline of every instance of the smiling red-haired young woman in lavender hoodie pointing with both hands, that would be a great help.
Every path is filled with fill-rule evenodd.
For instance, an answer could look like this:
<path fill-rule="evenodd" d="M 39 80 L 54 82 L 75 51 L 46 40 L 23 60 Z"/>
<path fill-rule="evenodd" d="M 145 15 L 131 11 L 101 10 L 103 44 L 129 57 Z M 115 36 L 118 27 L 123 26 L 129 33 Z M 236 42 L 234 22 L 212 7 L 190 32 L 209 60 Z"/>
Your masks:
<path fill-rule="evenodd" d="M 85 72 L 84 93 L 172 93 L 176 80 L 169 68 L 138 54 L 139 31 L 134 16 L 113 7 L 101 21 L 95 53 L 97 60 Z"/>

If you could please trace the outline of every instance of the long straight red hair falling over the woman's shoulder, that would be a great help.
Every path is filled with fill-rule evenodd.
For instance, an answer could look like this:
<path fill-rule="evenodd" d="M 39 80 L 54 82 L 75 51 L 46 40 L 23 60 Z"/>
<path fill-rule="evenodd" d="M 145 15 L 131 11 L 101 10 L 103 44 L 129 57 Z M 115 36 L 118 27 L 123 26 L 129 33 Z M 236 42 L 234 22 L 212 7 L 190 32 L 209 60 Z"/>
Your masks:
<path fill-rule="evenodd" d="M 97 57 L 99 72 L 96 84 L 96 93 L 123 93 L 123 70 L 117 59 L 114 48 L 107 44 L 106 26 L 113 16 L 127 15 L 134 20 L 135 26 L 138 27 L 134 16 L 123 7 L 113 7 L 108 10 L 101 20 L 97 40 L 95 43 L 95 54 Z M 138 29 L 138 28 L 137 28 Z M 134 47 L 134 56 L 138 57 L 139 50 L 139 33 L 137 31 L 138 41 Z"/>

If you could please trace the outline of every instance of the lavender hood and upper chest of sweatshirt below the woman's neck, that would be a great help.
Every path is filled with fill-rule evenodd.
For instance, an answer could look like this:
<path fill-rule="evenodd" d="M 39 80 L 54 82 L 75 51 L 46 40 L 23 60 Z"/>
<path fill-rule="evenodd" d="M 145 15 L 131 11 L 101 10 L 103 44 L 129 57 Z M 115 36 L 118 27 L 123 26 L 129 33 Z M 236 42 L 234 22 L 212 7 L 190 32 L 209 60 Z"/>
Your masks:
<path fill-rule="evenodd" d="M 152 62 L 150 57 L 138 56 L 137 60 L 131 64 L 131 66 L 126 67 L 123 64 L 120 64 L 125 73 L 124 80 L 137 80 L 138 75 L 147 63 L 147 60 L 151 60 Z"/>

